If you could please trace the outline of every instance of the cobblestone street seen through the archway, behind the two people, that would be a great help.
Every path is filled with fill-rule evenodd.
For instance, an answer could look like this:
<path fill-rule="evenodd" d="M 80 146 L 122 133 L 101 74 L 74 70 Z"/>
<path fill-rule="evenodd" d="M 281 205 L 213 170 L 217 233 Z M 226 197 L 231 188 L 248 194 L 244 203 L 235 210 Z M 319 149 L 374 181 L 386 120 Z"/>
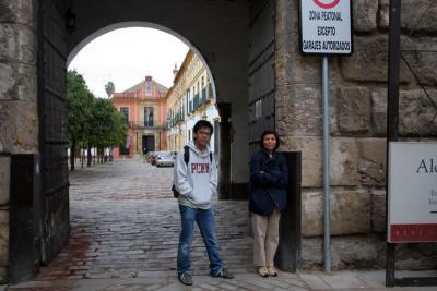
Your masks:
<path fill-rule="evenodd" d="M 134 278 L 175 269 L 180 220 L 170 191 L 173 168 L 122 160 L 74 171 L 70 181 L 71 241 L 54 263 L 58 270 L 44 270 L 40 279 Z M 247 203 L 215 205 L 223 257 L 245 270 L 251 257 Z M 208 255 L 196 234 L 194 268 L 208 274 Z"/>

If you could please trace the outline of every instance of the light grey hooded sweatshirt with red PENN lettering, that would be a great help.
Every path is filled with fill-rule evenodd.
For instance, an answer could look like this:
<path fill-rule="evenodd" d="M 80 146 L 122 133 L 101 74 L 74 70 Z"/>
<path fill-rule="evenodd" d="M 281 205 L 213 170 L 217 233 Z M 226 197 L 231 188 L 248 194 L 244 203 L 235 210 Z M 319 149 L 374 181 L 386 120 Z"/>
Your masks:
<path fill-rule="evenodd" d="M 217 191 L 217 168 L 210 158 L 210 147 L 200 151 L 193 142 L 187 144 L 190 150 L 188 165 L 184 161 L 184 149 L 176 156 L 174 185 L 179 192 L 179 204 L 191 208 L 208 209 L 211 196 Z"/>

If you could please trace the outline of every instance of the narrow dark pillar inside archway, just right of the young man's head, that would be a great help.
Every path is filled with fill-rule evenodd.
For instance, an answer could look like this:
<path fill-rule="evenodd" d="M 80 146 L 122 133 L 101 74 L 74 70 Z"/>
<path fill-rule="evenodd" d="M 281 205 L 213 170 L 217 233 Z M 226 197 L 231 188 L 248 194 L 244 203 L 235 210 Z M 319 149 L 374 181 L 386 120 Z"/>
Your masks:
<path fill-rule="evenodd" d="M 218 141 L 218 199 L 231 198 L 231 104 L 218 102 L 220 141 Z"/>

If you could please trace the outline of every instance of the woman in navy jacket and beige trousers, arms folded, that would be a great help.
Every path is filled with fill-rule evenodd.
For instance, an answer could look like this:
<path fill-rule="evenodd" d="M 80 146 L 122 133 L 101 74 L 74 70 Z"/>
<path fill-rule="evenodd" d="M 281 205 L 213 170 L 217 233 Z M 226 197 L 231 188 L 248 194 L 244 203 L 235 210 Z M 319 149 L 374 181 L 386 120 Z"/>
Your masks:
<path fill-rule="evenodd" d="M 288 168 L 276 153 L 277 133 L 264 131 L 261 149 L 250 159 L 249 210 L 253 229 L 253 265 L 262 277 L 276 277 L 273 259 L 279 244 L 281 213 L 286 207 Z"/>

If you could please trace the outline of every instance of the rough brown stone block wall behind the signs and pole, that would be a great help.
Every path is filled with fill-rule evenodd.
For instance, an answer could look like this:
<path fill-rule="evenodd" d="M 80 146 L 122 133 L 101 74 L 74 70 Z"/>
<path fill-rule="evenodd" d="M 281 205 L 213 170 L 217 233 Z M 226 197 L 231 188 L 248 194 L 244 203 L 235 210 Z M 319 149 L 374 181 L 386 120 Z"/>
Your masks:
<path fill-rule="evenodd" d="M 276 1 L 276 130 L 283 150 L 303 153 L 303 267 L 319 268 L 323 266 L 321 58 L 299 52 L 298 2 Z M 334 269 L 385 264 L 388 9 L 389 0 L 353 1 L 354 53 L 329 59 Z M 430 0 L 402 1 L 402 49 L 437 51 L 436 12 Z M 404 57 L 436 105 L 437 53 L 415 51 Z M 437 140 L 437 108 L 404 62 L 400 80 L 401 138 Z M 437 267 L 437 247 L 400 245 L 397 260 L 401 268 Z"/>

